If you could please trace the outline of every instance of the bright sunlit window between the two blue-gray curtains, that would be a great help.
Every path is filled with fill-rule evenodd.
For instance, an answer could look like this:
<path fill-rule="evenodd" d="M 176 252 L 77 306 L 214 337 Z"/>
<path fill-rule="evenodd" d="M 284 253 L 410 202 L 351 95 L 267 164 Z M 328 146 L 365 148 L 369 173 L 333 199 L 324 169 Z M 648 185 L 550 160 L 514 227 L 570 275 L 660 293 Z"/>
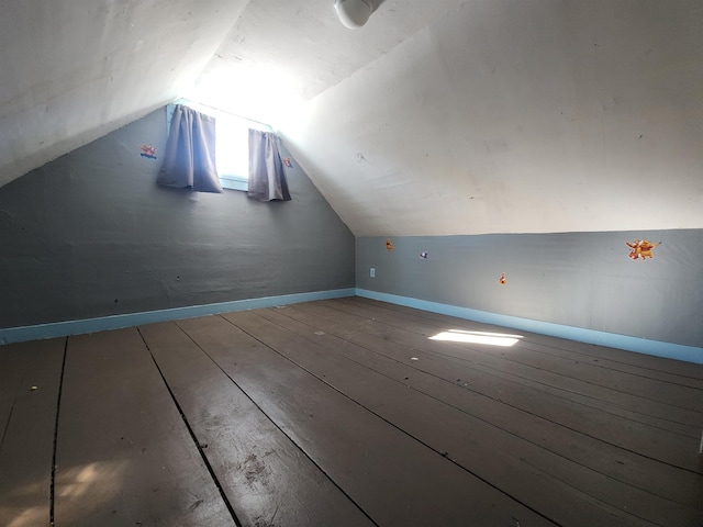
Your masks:
<path fill-rule="evenodd" d="M 215 117 L 215 153 L 220 183 L 224 189 L 246 191 L 249 178 L 249 128 L 265 132 L 271 132 L 272 128 L 267 124 L 249 121 L 188 100 L 181 99 L 174 104 L 185 104 Z M 167 108 L 167 131 L 170 130 L 174 104 L 169 104 Z"/>

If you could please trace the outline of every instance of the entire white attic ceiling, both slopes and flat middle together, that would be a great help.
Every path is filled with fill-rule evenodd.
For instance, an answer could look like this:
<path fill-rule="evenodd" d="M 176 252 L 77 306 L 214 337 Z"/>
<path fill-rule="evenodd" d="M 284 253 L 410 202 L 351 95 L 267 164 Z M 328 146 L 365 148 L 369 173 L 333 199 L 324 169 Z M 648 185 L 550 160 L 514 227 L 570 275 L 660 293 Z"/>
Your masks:
<path fill-rule="evenodd" d="M 188 97 L 357 236 L 703 227 L 700 0 L 376 2 L 4 1 L 0 184 Z"/>

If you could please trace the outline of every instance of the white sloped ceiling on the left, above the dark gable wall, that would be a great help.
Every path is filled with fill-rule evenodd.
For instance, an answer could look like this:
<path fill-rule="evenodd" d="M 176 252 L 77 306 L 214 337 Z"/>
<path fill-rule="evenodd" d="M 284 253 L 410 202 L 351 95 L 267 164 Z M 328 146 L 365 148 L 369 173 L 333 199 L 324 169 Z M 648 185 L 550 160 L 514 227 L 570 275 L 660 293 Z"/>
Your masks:
<path fill-rule="evenodd" d="M 0 186 L 177 98 L 244 0 L 5 0 Z"/>

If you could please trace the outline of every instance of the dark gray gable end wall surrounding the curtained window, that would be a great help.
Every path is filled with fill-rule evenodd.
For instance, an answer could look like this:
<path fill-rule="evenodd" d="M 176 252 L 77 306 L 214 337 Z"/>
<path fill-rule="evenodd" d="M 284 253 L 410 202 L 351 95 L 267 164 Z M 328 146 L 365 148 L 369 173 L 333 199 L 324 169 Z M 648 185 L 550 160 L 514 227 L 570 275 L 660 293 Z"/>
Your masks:
<path fill-rule="evenodd" d="M 165 142 L 159 110 L 0 188 L 0 327 L 354 287 L 354 236 L 294 162 L 291 202 L 165 189 Z"/>

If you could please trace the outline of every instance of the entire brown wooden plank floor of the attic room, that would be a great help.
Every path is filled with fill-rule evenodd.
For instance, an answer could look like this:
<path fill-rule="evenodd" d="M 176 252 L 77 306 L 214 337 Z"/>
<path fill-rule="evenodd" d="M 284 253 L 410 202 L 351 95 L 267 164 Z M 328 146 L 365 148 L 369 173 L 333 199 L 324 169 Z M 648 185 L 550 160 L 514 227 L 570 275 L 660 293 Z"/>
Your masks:
<path fill-rule="evenodd" d="M 431 338 L 476 332 L 522 338 Z M 702 428 L 696 365 L 360 298 L 228 313 L 0 347 L 0 525 L 700 527 Z"/>

